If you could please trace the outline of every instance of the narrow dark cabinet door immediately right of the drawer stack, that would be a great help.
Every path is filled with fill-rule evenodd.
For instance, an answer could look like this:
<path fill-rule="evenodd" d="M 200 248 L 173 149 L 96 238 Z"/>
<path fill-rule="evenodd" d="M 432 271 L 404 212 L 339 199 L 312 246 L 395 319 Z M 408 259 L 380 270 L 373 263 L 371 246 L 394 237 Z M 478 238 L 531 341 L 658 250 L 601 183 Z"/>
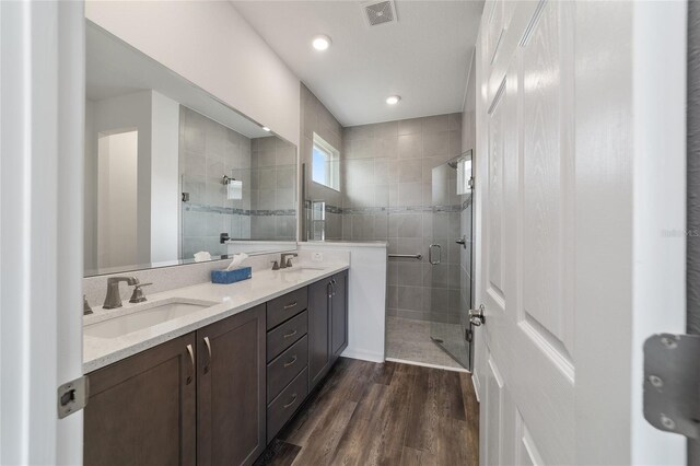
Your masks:
<path fill-rule="evenodd" d="M 308 287 L 308 389 L 326 375 L 330 368 L 330 280 Z"/>

